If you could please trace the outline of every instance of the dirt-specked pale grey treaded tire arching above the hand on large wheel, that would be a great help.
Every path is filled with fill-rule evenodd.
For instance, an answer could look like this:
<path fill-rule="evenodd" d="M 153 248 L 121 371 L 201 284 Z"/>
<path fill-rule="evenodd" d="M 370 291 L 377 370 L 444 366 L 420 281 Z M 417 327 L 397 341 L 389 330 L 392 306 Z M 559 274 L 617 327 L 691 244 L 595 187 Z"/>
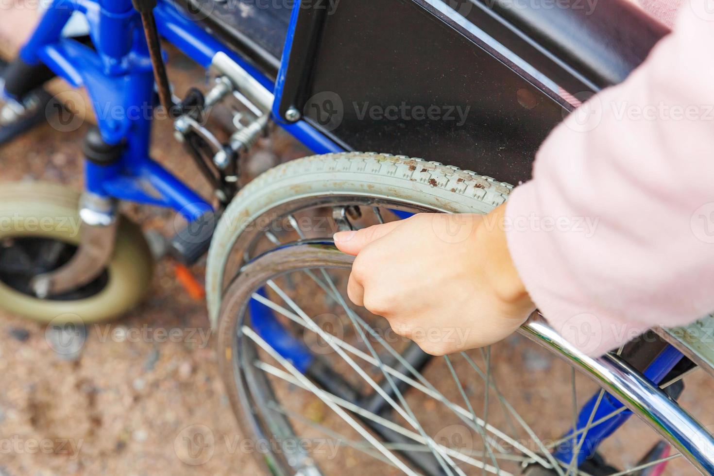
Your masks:
<path fill-rule="evenodd" d="M 387 153 L 344 152 L 289 161 L 262 173 L 233 198 L 208 250 L 206 298 L 214 328 L 228 253 L 248 223 L 279 203 L 308 195 L 357 193 L 398 198 L 448 213 L 488 213 L 513 186 L 434 161 Z"/>

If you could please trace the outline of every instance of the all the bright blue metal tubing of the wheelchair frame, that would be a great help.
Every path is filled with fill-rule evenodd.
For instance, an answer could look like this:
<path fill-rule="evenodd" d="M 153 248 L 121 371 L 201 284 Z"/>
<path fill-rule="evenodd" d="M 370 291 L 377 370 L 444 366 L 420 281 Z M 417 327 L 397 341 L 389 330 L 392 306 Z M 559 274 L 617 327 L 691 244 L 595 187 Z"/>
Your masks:
<path fill-rule="evenodd" d="M 188 20 L 170 0 L 159 0 L 155 16 L 159 34 L 204 68 L 208 68 L 213 56 L 222 51 L 263 86 L 273 90 L 276 96 L 274 120 L 298 141 L 316 153 L 343 151 L 343 148 L 305 121 L 288 123 L 277 111 L 299 10 L 293 9 L 276 83 Z M 62 38 L 62 29 L 76 11 L 86 16 L 95 49 Z M 99 196 L 174 208 L 188 221 L 211 210 L 208 202 L 149 156 L 152 111 L 156 105 L 154 76 L 139 15 L 132 7 L 131 0 L 54 0 L 34 34 L 21 49 L 20 57 L 28 64 L 41 61 L 72 86 L 84 86 L 91 98 L 104 141 L 126 144 L 125 152 L 114 165 L 99 166 L 86 161 L 85 186 L 88 191 Z M 115 111 L 117 107 L 119 116 L 107 113 Z M 401 218 L 411 215 L 396 213 Z M 304 372 L 313 359 L 306 345 L 289 334 L 271 310 L 256 300 L 251 301 L 250 310 L 258 333 Z M 681 358 L 682 355 L 675 348 L 669 347 L 653 361 L 645 371 L 645 376 L 659 383 Z M 598 420 L 623 406 L 605 394 L 591 420 L 590 414 L 597 401 L 598 395 L 595 395 L 585 404 L 580 410 L 577 427 L 566 436 L 571 435 L 573 430 L 584 428 L 588 420 Z M 578 464 L 583 462 L 630 415 L 629 410 L 624 410 L 591 427 L 585 432 L 582 442 L 570 439 L 569 444 L 555 451 L 555 457 L 568 463 L 575 447 L 579 445 Z"/>

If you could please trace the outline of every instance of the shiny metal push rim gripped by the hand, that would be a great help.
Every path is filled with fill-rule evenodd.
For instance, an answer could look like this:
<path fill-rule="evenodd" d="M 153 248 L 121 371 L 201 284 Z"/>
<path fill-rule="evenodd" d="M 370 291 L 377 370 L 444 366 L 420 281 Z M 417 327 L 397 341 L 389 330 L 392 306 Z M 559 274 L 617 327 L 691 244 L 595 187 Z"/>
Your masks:
<path fill-rule="evenodd" d="M 268 276 L 267 269 L 271 270 L 268 276 L 271 278 L 296 270 L 295 263 L 298 262 L 301 263 L 299 269 L 349 268 L 352 257 L 339 253 L 328 243 L 293 243 L 278 247 L 246 265 L 241 270 L 239 279 L 231 284 L 226 293 L 228 298 L 223 300 L 218 341 L 221 375 L 237 415 L 252 408 L 252 397 L 243 391 L 244 388 L 251 387 L 254 390 L 256 385 L 259 385 L 254 379 L 251 382 L 246 373 L 241 371 L 241 358 L 244 358 L 246 349 L 251 346 L 237 348 L 239 341 L 245 338 L 241 329 L 246 318 L 248 298 L 253 290 L 265 282 Z M 270 264 L 266 265 L 266 263 Z M 229 316 L 233 317 L 228 318 Z M 238 316 L 241 316 L 240 320 Z M 711 435 L 693 417 L 671 402 L 661 390 L 655 388 L 617 356 L 608 355 L 604 358 L 592 359 L 578 353 L 537 315 L 532 316 L 531 320 L 523 326 L 521 333 L 583 370 L 598 385 L 604 385 L 609 393 L 616 395 L 618 400 L 653 427 L 700 471 L 707 473 L 714 471 L 714 440 Z M 245 386 L 236 385 L 241 380 L 246 383 Z M 255 420 L 251 421 L 251 424 L 258 435 L 266 436 L 263 428 L 258 427 Z M 293 456 L 297 459 L 293 458 L 292 462 L 285 462 L 290 467 L 296 468 L 295 463 L 298 461 L 298 467 L 305 470 L 306 462 L 310 461 L 309 456 Z M 316 471 L 316 468 L 313 470 Z"/>

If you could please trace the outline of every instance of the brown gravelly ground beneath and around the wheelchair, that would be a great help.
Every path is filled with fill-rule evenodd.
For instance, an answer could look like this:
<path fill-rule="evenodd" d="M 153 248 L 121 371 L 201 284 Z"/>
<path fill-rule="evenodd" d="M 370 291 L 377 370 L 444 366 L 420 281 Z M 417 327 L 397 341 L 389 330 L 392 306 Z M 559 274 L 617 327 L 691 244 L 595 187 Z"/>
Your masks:
<path fill-rule="evenodd" d="M 171 76 L 181 93 L 200 72 L 178 57 Z M 44 125 L 0 148 L 0 186 L 51 181 L 80 190 L 87 127 L 59 133 Z M 156 124 L 152 153 L 179 178 L 208 192 L 171 137 L 168 121 Z M 285 136 L 275 136 L 252 154 L 246 174 L 305 153 Z M 173 233 L 171 211 L 125 204 L 124 212 L 147 233 Z M 202 280 L 202 263 L 192 271 Z M 167 338 L 172 329 L 179 338 Z M 236 426 L 218 379 L 205 305 L 188 297 L 169 260 L 157 264 L 144 303 L 116 323 L 86 328 L 78 352 L 57 352 L 59 337 L 44 325 L 0 311 L 0 476 L 256 474 L 253 455 L 241 450 L 246 435 Z M 521 349 L 512 352 L 506 358 L 511 364 L 536 365 L 542 359 Z M 710 419 L 712 379 L 698 372 L 687 383 L 683 402 Z M 538 420 L 545 410 L 558 412 L 533 406 L 523 416 Z M 634 431 L 612 444 L 626 447 L 628 438 L 637 437 Z M 347 468 L 348 474 L 361 474 L 359 467 Z M 683 468 L 672 467 L 669 474 L 691 474 Z"/>

